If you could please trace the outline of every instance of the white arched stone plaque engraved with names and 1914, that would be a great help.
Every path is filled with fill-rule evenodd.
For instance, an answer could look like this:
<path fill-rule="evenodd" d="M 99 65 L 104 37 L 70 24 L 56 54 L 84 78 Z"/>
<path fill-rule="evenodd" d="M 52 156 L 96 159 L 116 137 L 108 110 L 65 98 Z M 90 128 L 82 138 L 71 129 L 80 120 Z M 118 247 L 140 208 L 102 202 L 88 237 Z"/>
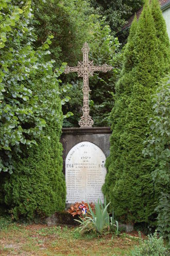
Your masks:
<path fill-rule="evenodd" d="M 82 141 L 65 159 L 66 203 L 104 202 L 101 187 L 105 182 L 106 156 L 94 143 Z"/>

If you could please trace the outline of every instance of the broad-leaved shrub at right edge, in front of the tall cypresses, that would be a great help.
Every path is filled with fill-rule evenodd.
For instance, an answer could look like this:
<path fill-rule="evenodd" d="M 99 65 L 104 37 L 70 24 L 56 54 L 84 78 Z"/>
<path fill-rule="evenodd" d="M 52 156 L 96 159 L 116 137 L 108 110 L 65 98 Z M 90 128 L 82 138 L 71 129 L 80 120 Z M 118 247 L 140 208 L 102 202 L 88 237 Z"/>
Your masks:
<path fill-rule="evenodd" d="M 146 148 L 143 150 L 145 156 L 154 157 L 156 168 L 152 172 L 152 179 L 157 184 L 168 185 L 169 173 L 169 134 L 170 134 L 170 74 L 161 80 L 161 83 L 152 96 L 154 117 L 148 120 L 150 133 L 144 141 Z"/>

